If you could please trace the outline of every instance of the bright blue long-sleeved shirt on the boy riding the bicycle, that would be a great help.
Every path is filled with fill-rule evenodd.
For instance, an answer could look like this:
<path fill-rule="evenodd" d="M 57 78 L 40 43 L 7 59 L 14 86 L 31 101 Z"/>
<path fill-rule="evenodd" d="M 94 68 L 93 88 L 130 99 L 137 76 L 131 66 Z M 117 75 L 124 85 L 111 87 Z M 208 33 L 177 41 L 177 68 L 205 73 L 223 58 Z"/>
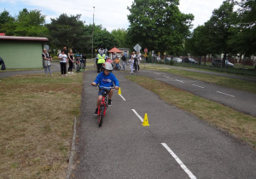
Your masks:
<path fill-rule="evenodd" d="M 113 87 L 113 84 L 115 84 L 115 86 L 119 86 L 119 80 L 112 72 L 110 72 L 108 76 L 105 75 L 104 72 L 99 73 L 94 82 L 104 87 Z"/>

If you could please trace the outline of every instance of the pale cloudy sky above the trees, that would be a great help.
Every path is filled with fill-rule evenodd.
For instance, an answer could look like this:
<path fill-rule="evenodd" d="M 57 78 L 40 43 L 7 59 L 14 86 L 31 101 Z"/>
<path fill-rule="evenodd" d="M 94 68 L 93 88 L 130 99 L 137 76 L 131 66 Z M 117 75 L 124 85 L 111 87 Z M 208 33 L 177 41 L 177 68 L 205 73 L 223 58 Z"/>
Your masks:
<path fill-rule="evenodd" d="M 218 9 L 224 0 L 180 0 L 178 6 L 183 14 L 194 14 L 194 28 L 203 25 L 212 16 L 212 11 Z M 22 9 L 41 10 L 46 15 L 46 23 L 51 22 L 60 14 L 76 15 L 81 14 L 80 20 L 85 25 L 94 22 L 102 25 L 109 32 L 114 29 L 127 29 L 129 21 L 127 14 L 130 11 L 133 0 L 0 0 L 0 13 L 7 10 L 10 15 L 19 14 Z M 94 8 L 95 7 L 95 8 Z"/>

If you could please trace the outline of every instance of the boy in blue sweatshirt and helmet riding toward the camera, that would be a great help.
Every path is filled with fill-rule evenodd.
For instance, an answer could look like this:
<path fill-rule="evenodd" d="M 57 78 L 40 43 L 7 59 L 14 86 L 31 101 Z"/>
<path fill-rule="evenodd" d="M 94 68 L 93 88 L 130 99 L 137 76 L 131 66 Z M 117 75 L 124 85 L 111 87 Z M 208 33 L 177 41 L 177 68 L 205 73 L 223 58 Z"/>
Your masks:
<path fill-rule="evenodd" d="M 109 62 L 105 62 L 102 65 L 103 72 L 99 73 L 94 80 L 94 82 L 91 83 L 91 85 L 95 86 L 98 84 L 99 86 L 103 87 L 113 87 L 115 85 L 115 90 L 119 89 L 119 80 L 114 76 L 113 72 L 113 66 Z M 105 92 L 105 89 L 99 90 L 98 98 L 96 102 L 96 112 L 94 113 L 97 115 L 98 113 L 98 107 L 101 105 L 102 101 L 102 93 Z M 113 89 L 110 90 L 108 94 L 108 106 L 112 105 L 112 96 L 113 96 Z"/>

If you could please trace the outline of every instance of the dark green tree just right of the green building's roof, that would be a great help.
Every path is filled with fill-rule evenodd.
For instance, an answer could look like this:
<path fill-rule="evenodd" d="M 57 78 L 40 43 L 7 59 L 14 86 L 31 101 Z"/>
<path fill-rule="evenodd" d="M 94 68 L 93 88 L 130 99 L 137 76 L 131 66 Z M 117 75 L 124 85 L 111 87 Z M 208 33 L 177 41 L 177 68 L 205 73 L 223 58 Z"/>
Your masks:
<path fill-rule="evenodd" d="M 50 44 L 59 49 L 67 46 L 79 52 L 87 51 L 90 36 L 85 33 L 84 22 L 79 20 L 80 16 L 61 14 L 58 18 L 51 19 L 51 23 L 46 25 Z"/>

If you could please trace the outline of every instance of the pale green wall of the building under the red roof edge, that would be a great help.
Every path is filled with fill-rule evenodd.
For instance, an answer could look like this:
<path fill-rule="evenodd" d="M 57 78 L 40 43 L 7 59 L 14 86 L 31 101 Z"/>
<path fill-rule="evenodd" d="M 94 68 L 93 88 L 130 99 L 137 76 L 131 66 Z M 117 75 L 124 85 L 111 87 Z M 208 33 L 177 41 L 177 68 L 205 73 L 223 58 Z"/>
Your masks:
<path fill-rule="evenodd" d="M 0 56 L 7 69 L 41 68 L 43 43 L 38 41 L 0 41 Z"/>

